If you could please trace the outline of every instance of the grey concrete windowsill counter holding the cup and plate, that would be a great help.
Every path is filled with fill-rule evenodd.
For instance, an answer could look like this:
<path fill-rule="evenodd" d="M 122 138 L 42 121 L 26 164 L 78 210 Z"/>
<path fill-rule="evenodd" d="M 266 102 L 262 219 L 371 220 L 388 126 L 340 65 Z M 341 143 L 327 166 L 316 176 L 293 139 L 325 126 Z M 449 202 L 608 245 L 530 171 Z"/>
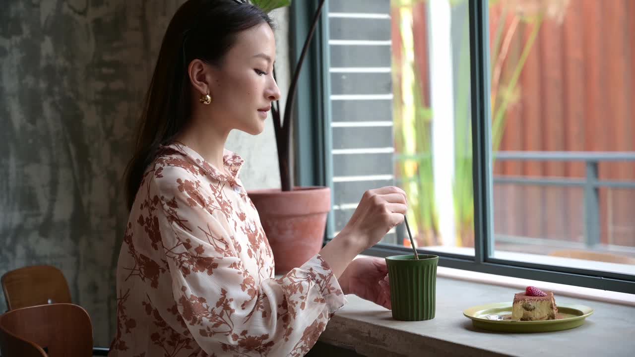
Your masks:
<path fill-rule="evenodd" d="M 575 295 L 572 292 L 580 288 L 573 287 L 566 295 L 554 289 L 556 303 L 582 304 L 594 309 L 584 325 L 549 333 L 488 332 L 472 327 L 471 320 L 465 318 L 462 311 L 493 302 L 511 303 L 513 294 L 521 290 L 444 277 L 456 270 L 447 269 L 439 267 L 433 320 L 396 321 L 387 309 L 349 295 L 347 304 L 333 316 L 319 340 L 363 356 L 381 357 L 632 356 L 635 351 L 632 338 L 635 336 L 635 307 L 627 306 L 629 298 L 635 301 L 635 295 L 622 294 L 624 296 L 618 296 L 615 301 L 618 304 L 612 304 L 566 296 Z M 526 282 L 517 280 L 516 285 Z M 552 288 L 545 283 L 538 286 Z"/>

